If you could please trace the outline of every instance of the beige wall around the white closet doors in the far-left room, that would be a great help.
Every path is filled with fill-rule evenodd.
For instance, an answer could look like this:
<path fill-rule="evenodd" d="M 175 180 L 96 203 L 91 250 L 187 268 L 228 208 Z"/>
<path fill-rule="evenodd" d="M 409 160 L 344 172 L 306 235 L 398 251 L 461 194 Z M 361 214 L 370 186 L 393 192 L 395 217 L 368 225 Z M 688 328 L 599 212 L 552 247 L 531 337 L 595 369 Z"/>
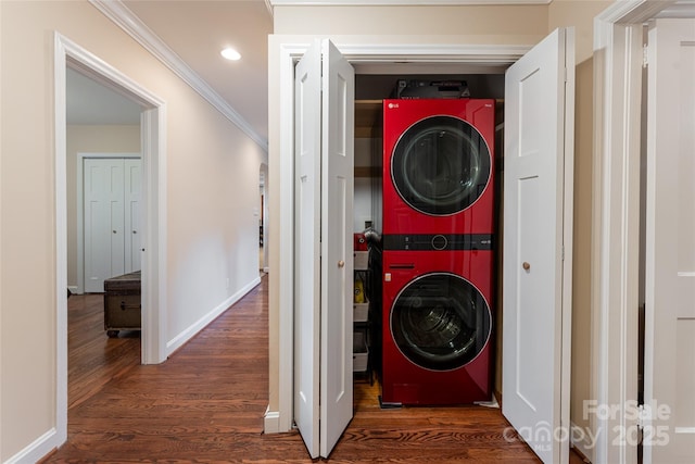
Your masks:
<path fill-rule="evenodd" d="M 67 126 L 67 285 L 77 286 L 77 153 L 139 153 L 140 126 Z"/>

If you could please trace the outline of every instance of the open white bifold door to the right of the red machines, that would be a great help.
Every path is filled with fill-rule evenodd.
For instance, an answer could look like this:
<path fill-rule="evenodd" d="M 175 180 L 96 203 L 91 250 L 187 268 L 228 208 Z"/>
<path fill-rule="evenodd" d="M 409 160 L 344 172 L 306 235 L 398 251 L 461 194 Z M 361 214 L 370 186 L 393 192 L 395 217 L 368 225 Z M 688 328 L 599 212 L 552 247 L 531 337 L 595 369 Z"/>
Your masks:
<path fill-rule="evenodd" d="M 574 42 L 557 29 L 505 77 L 502 412 L 569 460 Z"/>

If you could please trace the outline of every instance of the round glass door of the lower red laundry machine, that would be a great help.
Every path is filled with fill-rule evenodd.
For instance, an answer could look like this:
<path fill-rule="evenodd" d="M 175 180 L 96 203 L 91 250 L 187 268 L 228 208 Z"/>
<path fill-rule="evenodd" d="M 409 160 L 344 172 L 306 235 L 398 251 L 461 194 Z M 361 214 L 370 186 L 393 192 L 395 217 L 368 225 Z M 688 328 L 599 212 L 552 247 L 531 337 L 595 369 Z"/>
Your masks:
<path fill-rule="evenodd" d="M 465 366 L 483 350 L 491 330 L 485 299 L 454 274 L 427 274 L 409 283 L 391 309 L 391 334 L 405 358 L 431 371 Z"/>

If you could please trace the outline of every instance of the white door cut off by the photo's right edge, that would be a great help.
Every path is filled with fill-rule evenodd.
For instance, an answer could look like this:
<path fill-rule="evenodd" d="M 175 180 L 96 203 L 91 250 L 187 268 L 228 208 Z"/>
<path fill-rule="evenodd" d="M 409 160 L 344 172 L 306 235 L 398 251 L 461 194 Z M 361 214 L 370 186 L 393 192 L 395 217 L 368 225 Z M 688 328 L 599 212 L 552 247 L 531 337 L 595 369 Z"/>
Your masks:
<path fill-rule="evenodd" d="M 695 21 L 648 36 L 644 462 L 695 462 Z"/>

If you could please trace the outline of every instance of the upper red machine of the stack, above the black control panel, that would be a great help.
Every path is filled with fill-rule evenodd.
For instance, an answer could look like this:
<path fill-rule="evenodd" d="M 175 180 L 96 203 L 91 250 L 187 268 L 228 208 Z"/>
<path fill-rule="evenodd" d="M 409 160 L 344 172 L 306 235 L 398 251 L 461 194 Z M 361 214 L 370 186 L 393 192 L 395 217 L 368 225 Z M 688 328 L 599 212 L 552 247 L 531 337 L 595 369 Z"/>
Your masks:
<path fill-rule="evenodd" d="M 493 231 L 494 110 L 494 100 L 383 101 L 383 235 Z"/>

